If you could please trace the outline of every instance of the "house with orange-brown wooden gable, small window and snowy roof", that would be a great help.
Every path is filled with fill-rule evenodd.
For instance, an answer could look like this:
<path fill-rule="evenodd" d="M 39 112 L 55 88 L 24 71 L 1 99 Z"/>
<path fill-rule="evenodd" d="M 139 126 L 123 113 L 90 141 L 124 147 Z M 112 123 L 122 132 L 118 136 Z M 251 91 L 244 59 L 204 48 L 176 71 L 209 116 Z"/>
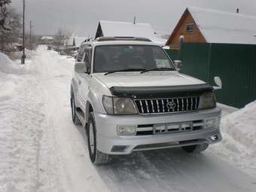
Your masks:
<path fill-rule="evenodd" d="M 186 8 L 166 45 L 184 42 L 256 44 L 256 17 L 203 8 Z"/>

